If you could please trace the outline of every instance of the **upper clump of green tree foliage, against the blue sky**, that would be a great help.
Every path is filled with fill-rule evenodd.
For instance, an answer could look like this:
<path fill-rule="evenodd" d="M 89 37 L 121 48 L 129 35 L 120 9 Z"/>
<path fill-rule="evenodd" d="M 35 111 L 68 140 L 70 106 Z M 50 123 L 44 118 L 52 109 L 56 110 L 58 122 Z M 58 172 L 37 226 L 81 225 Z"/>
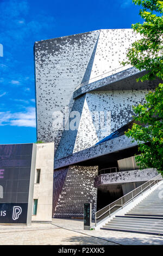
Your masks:
<path fill-rule="evenodd" d="M 162 16 L 153 13 L 163 13 L 163 1 L 158 0 L 133 0 L 135 4 L 142 5 L 140 16 L 145 20 L 142 24 L 132 25 L 134 32 L 141 35 L 141 39 L 135 41 L 127 53 L 127 61 L 124 65 L 131 64 L 140 71 L 148 70 L 148 74 L 138 78 L 138 81 L 153 80 L 155 76 L 163 79 L 162 57 Z M 149 11 L 148 11 L 149 10 Z"/>

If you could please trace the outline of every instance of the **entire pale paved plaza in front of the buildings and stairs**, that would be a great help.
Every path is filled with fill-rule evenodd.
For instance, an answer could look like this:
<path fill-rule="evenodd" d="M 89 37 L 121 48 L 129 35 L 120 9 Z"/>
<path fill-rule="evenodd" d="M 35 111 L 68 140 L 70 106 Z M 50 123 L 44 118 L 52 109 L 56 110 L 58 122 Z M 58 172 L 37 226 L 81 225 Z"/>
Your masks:
<path fill-rule="evenodd" d="M 0 225 L 0 245 L 163 245 L 163 237 L 83 230 L 83 220 L 55 218 L 52 224 Z"/>

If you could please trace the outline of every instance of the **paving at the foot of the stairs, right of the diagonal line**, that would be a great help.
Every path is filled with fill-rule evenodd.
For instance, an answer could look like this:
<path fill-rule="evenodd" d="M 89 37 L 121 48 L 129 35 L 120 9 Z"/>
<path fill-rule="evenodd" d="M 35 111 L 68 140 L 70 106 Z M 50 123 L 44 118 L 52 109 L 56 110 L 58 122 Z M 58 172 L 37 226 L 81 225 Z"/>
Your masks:
<path fill-rule="evenodd" d="M 52 223 L 57 227 L 77 231 L 85 235 L 95 236 L 120 245 L 163 245 L 163 236 L 111 230 L 84 230 L 83 220 L 53 218 Z"/>

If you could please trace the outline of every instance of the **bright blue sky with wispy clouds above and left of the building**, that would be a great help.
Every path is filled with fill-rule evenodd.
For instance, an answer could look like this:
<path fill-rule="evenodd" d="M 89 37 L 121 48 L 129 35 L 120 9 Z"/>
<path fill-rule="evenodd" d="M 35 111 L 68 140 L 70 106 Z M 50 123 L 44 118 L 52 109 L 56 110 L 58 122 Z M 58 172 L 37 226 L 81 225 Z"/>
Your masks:
<path fill-rule="evenodd" d="M 0 10 L 0 144 L 36 142 L 35 41 L 142 22 L 131 0 L 0 0 Z"/>

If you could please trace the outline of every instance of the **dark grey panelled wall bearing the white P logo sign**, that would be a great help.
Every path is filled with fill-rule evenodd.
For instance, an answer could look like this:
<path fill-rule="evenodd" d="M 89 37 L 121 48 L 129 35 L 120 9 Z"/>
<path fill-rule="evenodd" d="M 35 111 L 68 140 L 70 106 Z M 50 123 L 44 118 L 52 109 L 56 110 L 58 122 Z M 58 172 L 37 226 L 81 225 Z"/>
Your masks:
<path fill-rule="evenodd" d="M 33 144 L 0 145 L 0 223 L 27 223 L 32 150 Z"/>

